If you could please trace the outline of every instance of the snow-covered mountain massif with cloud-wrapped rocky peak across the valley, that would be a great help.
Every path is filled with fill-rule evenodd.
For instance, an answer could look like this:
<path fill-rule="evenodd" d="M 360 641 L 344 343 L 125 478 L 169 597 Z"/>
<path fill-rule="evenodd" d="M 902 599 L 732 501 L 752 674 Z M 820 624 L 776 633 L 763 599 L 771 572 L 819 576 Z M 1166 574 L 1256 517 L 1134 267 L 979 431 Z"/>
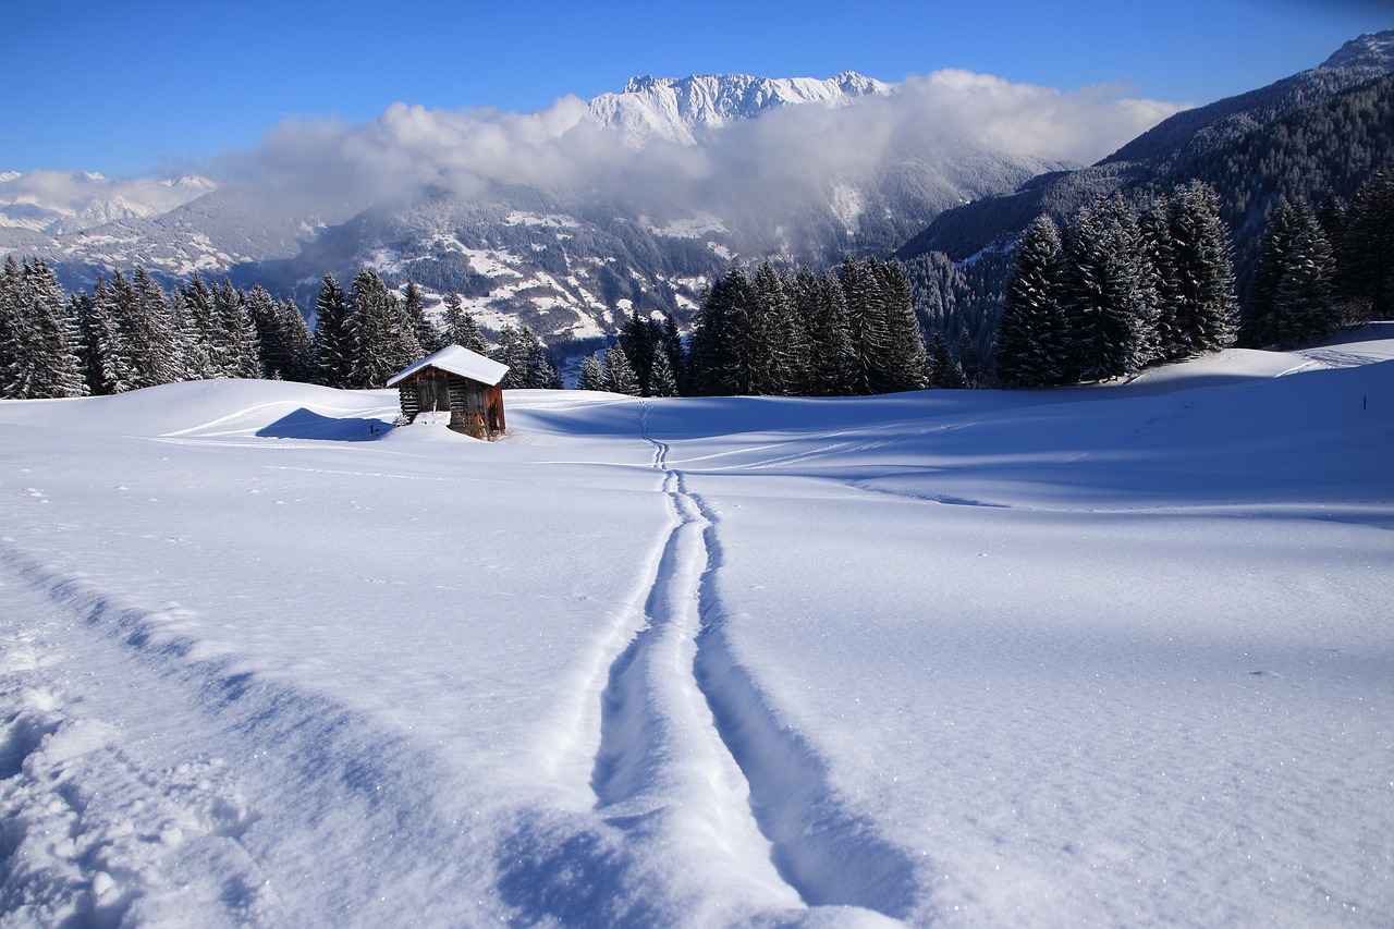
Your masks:
<path fill-rule="evenodd" d="M 389 138 L 396 160 L 276 151 L 265 159 L 307 167 L 103 223 L 0 227 L 0 250 L 46 258 L 71 289 L 142 264 L 166 283 L 194 271 L 261 282 L 301 307 L 326 272 L 368 265 L 415 280 L 428 310 L 454 290 L 487 328 L 597 338 L 636 307 L 686 318 L 732 259 L 887 254 L 944 209 L 1062 167 L 895 124 L 896 92 L 853 73 L 637 77 L 588 103 L 474 123 L 401 106 L 333 152 Z M 393 135 L 393 120 L 410 126 Z M 431 145 L 410 148 L 421 135 Z M 488 151 L 498 139 L 503 159 Z"/>

